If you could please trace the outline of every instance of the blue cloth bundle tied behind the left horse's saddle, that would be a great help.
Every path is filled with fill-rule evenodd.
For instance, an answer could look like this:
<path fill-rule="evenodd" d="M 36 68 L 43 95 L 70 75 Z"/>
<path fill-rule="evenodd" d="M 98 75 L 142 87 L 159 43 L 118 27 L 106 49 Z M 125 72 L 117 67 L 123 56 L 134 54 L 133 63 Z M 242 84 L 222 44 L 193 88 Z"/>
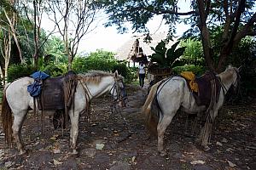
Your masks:
<path fill-rule="evenodd" d="M 37 97 L 42 91 L 42 80 L 49 78 L 49 75 L 43 71 L 37 71 L 30 77 L 34 79 L 34 82 L 27 86 L 27 91 L 32 97 Z"/>

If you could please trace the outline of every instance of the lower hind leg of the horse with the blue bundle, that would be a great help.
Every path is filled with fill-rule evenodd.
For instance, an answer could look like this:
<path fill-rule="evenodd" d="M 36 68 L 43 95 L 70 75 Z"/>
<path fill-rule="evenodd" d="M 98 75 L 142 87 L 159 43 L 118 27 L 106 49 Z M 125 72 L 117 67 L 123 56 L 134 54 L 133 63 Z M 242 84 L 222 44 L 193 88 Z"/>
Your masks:
<path fill-rule="evenodd" d="M 26 112 L 27 111 L 20 111 L 19 115 L 15 114 L 15 120 L 14 120 L 14 124 L 12 126 L 15 141 L 17 144 L 17 148 L 18 148 L 18 150 L 20 150 L 20 155 L 26 153 L 26 150 L 24 149 L 24 144 L 21 139 L 21 127 L 25 120 Z M 14 113 L 15 113 L 15 111 L 14 111 Z"/>

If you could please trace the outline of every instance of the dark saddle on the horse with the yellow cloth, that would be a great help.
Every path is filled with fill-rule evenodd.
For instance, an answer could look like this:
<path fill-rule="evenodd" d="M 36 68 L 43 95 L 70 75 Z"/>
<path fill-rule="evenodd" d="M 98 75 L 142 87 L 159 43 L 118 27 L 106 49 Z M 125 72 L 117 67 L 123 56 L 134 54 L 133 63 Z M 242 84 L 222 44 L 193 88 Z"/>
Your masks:
<path fill-rule="evenodd" d="M 193 92 L 197 105 L 206 105 L 209 108 L 212 107 L 213 101 L 218 102 L 221 84 L 213 72 L 207 71 L 201 77 L 195 77 L 195 80 L 184 78 L 188 82 L 189 89 Z M 196 82 L 198 88 L 196 91 L 190 87 L 191 81 Z"/>

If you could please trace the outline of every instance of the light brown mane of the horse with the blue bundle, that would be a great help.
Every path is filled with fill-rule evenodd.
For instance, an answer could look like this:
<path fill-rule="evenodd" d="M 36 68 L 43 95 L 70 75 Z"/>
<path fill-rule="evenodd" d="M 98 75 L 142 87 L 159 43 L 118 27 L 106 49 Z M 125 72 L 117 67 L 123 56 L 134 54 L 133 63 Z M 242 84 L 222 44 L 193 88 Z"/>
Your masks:
<path fill-rule="evenodd" d="M 99 84 L 99 82 L 102 81 L 103 77 L 113 77 L 114 74 L 106 71 L 88 71 L 86 74 L 79 74 L 78 77 L 79 79 L 83 80 L 84 82 L 92 82 L 95 84 Z M 120 79 L 123 79 L 119 75 Z"/>

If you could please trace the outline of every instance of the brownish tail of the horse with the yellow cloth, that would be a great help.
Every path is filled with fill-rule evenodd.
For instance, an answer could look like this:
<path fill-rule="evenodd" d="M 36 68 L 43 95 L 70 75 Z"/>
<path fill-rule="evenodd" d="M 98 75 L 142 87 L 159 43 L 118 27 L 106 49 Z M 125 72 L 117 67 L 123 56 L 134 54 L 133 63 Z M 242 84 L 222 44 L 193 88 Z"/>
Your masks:
<path fill-rule="evenodd" d="M 146 99 L 142 110 L 143 115 L 145 116 L 146 126 L 148 127 L 148 130 L 154 134 L 157 134 L 156 127 L 159 122 L 159 117 L 157 116 L 156 112 L 152 110 L 152 105 L 154 105 L 155 95 L 160 83 L 161 81 L 157 82 L 151 87 L 148 98 Z"/>

